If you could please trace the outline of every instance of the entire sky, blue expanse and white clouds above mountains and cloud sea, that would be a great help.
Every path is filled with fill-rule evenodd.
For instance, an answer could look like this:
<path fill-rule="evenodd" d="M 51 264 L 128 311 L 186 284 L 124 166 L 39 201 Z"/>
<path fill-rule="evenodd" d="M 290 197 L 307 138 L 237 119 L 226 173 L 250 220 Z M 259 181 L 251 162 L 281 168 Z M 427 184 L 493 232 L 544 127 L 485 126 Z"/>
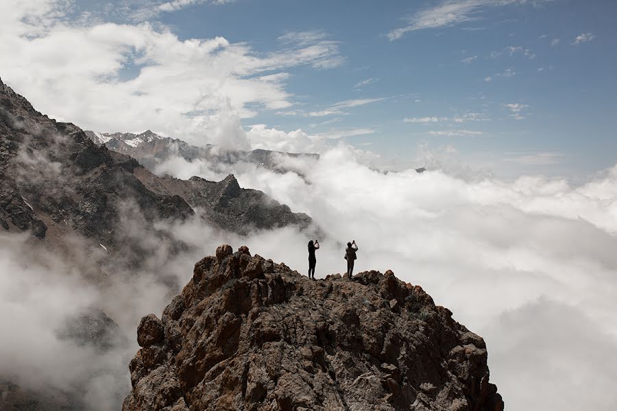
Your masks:
<path fill-rule="evenodd" d="M 581 180 L 616 163 L 608 2 L 28 4 L 0 17 L 0 76 L 84 129 L 343 143 L 385 168 L 434 157 L 507 178 Z"/>

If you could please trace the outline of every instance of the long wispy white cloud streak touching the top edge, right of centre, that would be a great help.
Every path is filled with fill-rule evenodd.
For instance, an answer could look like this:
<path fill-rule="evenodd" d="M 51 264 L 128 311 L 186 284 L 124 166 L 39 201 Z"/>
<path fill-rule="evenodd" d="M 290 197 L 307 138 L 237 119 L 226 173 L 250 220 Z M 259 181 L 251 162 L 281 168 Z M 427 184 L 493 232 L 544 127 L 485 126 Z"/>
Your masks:
<path fill-rule="evenodd" d="M 407 18 L 407 25 L 388 33 L 389 40 L 397 40 L 409 32 L 422 29 L 447 27 L 465 21 L 478 20 L 484 8 L 509 4 L 524 4 L 527 0 L 463 0 L 442 1 L 439 5 L 425 8 Z"/>

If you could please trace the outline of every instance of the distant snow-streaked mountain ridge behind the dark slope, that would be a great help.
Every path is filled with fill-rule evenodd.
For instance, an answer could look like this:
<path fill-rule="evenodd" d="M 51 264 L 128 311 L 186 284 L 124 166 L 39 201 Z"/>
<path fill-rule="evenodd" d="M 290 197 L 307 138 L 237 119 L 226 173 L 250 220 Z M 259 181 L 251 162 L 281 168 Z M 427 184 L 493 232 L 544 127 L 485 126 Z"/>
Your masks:
<path fill-rule="evenodd" d="M 118 153 L 130 155 L 143 164 L 147 169 L 154 171 L 156 166 L 174 157 L 181 157 L 192 162 L 206 160 L 213 169 L 223 171 L 224 166 L 238 162 L 247 162 L 257 167 L 263 167 L 276 172 L 285 173 L 289 167 L 282 164 L 280 158 L 311 158 L 317 159 L 317 154 L 282 153 L 257 149 L 253 151 L 222 151 L 219 147 L 205 145 L 197 147 L 178 138 L 162 137 L 146 130 L 141 134 L 132 133 L 97 133 L 86 132 L 97 145 L 105 145 L 108 149 Z"/>

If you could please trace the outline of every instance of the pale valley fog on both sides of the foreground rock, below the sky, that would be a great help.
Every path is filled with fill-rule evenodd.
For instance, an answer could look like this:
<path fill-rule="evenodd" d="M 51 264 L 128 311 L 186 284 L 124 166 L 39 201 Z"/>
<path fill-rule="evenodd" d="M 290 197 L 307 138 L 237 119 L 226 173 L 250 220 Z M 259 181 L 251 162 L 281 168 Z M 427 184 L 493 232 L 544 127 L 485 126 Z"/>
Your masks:
<path fill-rule="evenodd" d="M 324 233 L 317 278 L 342 273 L 343 245 L 356 240 L 356 272 L 392 269 L 485 338 L 492 382 L 509 410 L 617 406 L 610 386 L 617 380 L 617 167 L 572 186 L 565 179 L 505 182 L 439 169 L 384 173 L 345 145 L 324 149 L 319 159 L 279 161 L 293 171 L 173 158 L 156 172 L 208 179 L 232 172 L 241 186 L 306 212 Z M 88 258 L 69 261 L 33 251 L 25 236 L 0 237 L 1 374 L 32 388 L 78 386 L 91 409 L 119 408 L 130 390 L 139 319 L 160 316 L 193 264 L 217 245 L 248 245 L 300 273 L 308 268 L 311 238 L 293 228 L 241 237 L 197 219 L 144 227 L 130 215 L 125 229 L 152 257 L 138 270 L 115 267 L 103 282 L 84 276 Z M 190 251 L 171 255 L 152 229 Z M 91 264 L 113 258 L 84 254 Z M 103 309 L 130 343 L 101 353 L 59 338 L 67 319 L 90 306 Z"/>

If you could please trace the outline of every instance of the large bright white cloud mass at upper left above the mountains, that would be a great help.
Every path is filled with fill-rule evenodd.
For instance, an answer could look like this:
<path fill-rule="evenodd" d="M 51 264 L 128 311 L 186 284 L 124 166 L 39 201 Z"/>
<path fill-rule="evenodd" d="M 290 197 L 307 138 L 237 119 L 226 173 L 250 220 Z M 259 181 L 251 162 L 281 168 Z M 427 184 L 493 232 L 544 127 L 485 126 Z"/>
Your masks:
<path fill-rule="evenodd" d="M 0 73 L 39 110 L 101 132 L 153 129 L 246 148 L 240 119 L 293 105 L 286 69 L 341 62 L 338 43 L 316 36 L 256 53 L 222 37 L 180 40 L 147 23 L 70 25 L 65 7 L 40 0 L 5 8 L 0 55 L 12 58 L 0 60 Z"/>

